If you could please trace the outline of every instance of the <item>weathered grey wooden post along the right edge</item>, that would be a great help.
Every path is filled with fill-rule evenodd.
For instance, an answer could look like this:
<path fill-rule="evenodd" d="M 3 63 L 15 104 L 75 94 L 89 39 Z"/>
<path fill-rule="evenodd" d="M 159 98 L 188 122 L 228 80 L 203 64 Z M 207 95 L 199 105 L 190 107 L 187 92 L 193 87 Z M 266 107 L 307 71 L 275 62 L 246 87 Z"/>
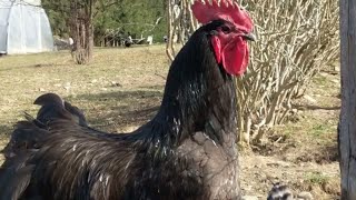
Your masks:
<path fill-rule="evenodd" d="M 342 200 L 356 200 L 356 0 L 340 1 L 342 113 L 338 143 Z"/>

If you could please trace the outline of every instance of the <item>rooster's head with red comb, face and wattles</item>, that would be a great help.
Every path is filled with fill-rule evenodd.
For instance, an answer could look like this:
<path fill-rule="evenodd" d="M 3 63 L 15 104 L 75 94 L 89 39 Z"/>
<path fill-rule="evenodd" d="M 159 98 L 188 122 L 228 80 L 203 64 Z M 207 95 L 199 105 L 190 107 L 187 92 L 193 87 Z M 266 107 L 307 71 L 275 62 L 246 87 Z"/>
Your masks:
<path fill-rule="evenodd" d="M 231 0 L 196 0 L 191 10 L 206 27 L 216 60 L 229 74 L 239 76 L 248 64 L 247 40 L 255 40 L 253 20 Z"/>

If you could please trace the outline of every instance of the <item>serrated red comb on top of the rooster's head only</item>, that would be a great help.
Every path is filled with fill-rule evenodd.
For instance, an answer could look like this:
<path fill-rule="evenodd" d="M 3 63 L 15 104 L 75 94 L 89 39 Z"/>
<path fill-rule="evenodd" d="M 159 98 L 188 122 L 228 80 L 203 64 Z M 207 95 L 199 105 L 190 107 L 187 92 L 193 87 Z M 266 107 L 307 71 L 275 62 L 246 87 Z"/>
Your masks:
<path fill-rule="evenodd" d="M 236 2 L 231 0 L 220 0 L 220 6 L 217 0 L 195 0 L 191 10 L 197 20 L 205 24 L 212 20 L 224 19 L 234 23 L 239 30 L 246 32 L 253 31 L 253 20 L 248 13 L 240 9 Z"/>

